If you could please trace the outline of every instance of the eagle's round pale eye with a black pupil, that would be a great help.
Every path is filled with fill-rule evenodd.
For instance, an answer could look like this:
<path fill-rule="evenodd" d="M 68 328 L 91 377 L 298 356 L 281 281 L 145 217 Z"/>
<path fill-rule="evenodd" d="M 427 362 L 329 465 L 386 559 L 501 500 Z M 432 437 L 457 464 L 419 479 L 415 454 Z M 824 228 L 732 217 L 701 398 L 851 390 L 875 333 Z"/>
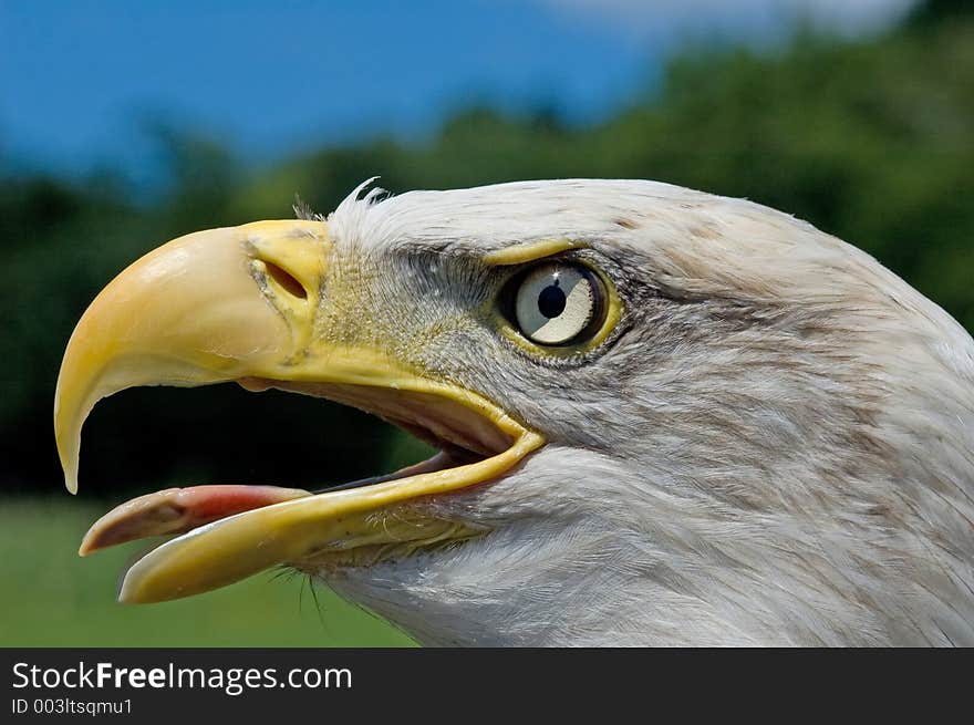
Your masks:
<path fill-rule="evenodd" d="M 605 318 L 605 292 L 599 277 L 586 267 L 545 262 L 516 283 L 512 312 L 512 322 L 532 342 L 584 342 Z"/>

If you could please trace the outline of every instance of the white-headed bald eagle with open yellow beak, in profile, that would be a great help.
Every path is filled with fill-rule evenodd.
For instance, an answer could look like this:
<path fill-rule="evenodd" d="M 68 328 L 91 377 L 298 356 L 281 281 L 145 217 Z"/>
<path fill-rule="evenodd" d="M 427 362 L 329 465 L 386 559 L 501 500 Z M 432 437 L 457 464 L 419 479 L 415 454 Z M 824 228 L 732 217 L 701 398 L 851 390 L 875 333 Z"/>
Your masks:
<path fill-rule="evenodd" d="M 68 343 L 68 488 L 100 398 L 230 381 L 437 453 L 123 504 L 82 553 L 169 537 L 124 602 L 284 566 L 429 645 L 974 645 L 974 341 L 785 213 L 649 180 L 370 179 L 328 216 L 180 237 Z"/>

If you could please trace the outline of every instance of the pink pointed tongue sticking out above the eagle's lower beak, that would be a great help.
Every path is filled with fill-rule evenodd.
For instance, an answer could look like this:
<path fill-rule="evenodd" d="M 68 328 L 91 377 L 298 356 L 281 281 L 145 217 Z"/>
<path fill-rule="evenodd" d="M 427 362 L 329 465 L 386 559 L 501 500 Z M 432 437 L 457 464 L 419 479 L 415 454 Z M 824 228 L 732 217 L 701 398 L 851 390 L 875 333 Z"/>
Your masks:
<path fill-rule="evenodd" d="M 133 498 L 95 521 L 77 552 L 92 551 L 151 536 L 184 534 L 204 524 L 253 508 L 310 496 L 277 486 L 193 486 L 167 488 Z"/>

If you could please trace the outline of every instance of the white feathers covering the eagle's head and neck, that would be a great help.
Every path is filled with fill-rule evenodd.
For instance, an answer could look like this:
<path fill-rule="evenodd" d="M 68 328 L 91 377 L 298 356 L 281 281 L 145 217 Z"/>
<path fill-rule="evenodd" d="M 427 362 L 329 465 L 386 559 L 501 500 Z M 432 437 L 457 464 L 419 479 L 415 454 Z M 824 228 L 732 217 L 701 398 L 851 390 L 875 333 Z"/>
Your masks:
<path fill-rule="evenodd" d="M 424 504 L 491 534 L 323 571 L 340 592 L 426 643 L 974 644 L 974 342 L 868 255 L 650 182 L 356 189 L 329 224 L 388 270 L 397 353 L 549 441 Z M 626 312 L 553 364 L 469 313 L 470 260 L 562 237 Z"/>

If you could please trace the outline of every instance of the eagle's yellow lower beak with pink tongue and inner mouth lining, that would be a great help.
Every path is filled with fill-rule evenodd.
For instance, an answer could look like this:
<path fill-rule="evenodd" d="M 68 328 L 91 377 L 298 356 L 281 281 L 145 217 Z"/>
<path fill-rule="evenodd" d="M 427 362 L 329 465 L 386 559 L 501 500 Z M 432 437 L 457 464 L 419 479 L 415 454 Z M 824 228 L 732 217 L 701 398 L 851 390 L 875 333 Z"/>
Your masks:
<path fill-rule="evenodd" d="M 477 536 L 484 529 L 432 512 L 424 498 L 496 480 L 537 445 L 537 436 L 484 401 L 475 410 L 466 401 L 425 391 L 262 379 L 239 382 L 251 391 L 277 387 L 354 405 L 438 452 L 392 474 L 322 490 L 203 485 L 126 501 L 89 529 L 82 556 L 136 539 L 176 538 L 128 570 L 120 600 L 188 597 L 276 565 L 308 570 L 371 566 Z"/>

